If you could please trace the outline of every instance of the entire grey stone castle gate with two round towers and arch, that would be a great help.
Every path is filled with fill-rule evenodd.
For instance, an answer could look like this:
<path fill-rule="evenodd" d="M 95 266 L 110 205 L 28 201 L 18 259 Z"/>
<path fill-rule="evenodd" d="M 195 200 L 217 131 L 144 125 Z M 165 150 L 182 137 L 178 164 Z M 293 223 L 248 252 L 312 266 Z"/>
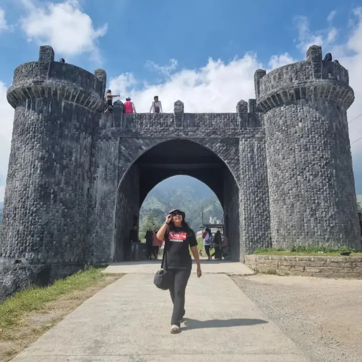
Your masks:
<path fill-rule="evenodd" d="M 15 118 L 0 300 L 84 264 L 124 260 L 147 193 L 178 174 L 153 165 L 178 159 L 220 200 L 233 260 L 270 246 L 359 250 L 348 77 L 312 46 L 306 61 L 256 70 L 255 99 L 240 100 L 236 113 L 185 113 L 177 100 L 173 113 L 123 114 L 117 101 L 105 114 L 106 72 L 54 61 L 40 47 L 8 90 Z"/>

